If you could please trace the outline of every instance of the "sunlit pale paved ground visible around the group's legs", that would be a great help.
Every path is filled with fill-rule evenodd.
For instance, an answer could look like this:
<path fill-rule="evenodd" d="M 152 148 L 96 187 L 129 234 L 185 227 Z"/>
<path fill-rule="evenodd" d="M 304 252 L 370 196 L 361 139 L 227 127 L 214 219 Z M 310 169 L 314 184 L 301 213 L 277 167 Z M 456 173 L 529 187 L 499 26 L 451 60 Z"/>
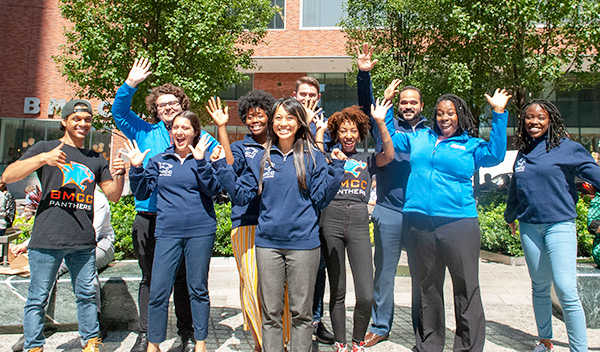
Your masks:
<path fill-rule="evenodd" d="M 401 264 L 406 265 L 406 255 Z M 407 270 L 399 270 L 402 271 Z M 348 270 L 348 272 L 350 272 Z M 349 285 L 352 280 L 348 279 Z M 535 321 L 531 307 L 531 283 L 525 266 L 508 266 L 481 262 L 480 284 L 483 305 L 487 320 L 485 351 L 531 351 L 536 338 Z M 249 333 L 242 330 L 240 313 L 238 275 L 233 258 L 213 258 L 211 262 L 209 288 L 211 292 L 211 321 L 207 339 L 208 351 L 252 351 L 253 343 Z M 347 302 L 353 304 L 353 287 L 348 288 Z M 452 284 L 446 276 L 446 351 L 452 350 L 454 307 L 452 304 Z M 328 300 L 328 293 L 325 295 Z M 396 310 L 394 327 L 388 341 L 367 349 L 371 352 L 410 351 L 413 343 L 410 321 L 410 278 L 398 276 L 395 289 Z M 598 302 L 600 304 L 600 302 Z M 172 306 L 171 306 L 172 309 Z M 347 328 L 352 326 L 352 307 L 348 308 Z M 329 323 L 326 312 L 325 323 Z M 178 352 L 179 340 L 176 336 L 174 314 L 171 312 L 167 340 L 161 345 L 162 351 Z M 568 351 L 565 325 L 554 318 L 554 346 L 556 352 Z M 348 333 L 349 334 L 349 333 Z M 590 351 L 600 351 L 600 329 L 588 329 Z M 350 336 L 350 335 L 348 335 Z M 104 341 L 103 351 L 129 352 L 137 335 L 129 331 L 110 331 Z M 19 335 L 0 335 L 0 351 L 11 351 L 10 347 Z M 332 346 L 319 345 L 321 351 L 333 351 Z M 79 352 L 81 347 L 77 332 L 55 333 L 47 338 L 46 351 Z"/>

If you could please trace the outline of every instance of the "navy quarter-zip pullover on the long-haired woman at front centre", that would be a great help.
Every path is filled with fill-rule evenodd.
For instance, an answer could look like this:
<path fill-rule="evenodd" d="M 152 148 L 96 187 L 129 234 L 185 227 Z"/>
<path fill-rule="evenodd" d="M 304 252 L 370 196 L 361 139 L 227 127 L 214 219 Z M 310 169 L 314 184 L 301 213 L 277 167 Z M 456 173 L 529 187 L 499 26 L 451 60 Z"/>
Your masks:
<path fill-rule="evenodd" d="M 213 163 L 216 176 L 235 205 L 254 199 L 260 181 L 261 151 L 238 178 L 224 159 Z M 306 152 L 306 184 L 301 191 L 296 178 L 293 152 L 283 155 L 271 149 L 272 166 L 266 166 L 260 212 L 256 227 L 257 247 L 308 250 L 320 246 L 319 214 L 335 197 L 342 178 L 344 162 L 333 160 L 327 165 L 325 156 L 313 149 L 314 163 Z"/>

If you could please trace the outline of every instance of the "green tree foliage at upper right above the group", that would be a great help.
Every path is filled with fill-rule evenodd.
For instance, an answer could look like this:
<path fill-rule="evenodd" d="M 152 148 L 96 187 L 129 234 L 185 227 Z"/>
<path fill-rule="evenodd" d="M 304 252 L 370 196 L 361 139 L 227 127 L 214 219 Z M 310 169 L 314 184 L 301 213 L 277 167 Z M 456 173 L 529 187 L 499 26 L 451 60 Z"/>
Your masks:
<path fill-rule="evenodd" d="M 348 52 L 377 47 L 379 75 L 424 88 L 426 103 L 453 92 L 484 111 L 483 94 L 504 87 L 519 109 L 554 89 L 600 82 L 600 3 L 596 0 L 355 0 L 341 22 Z M 371 6 L 372 12 L 357 11 Z M 406 18 L 406 21 L 394 21 Z M 408 28 L 408 30 L 407 30 Z M 383 38 L 388 38 L 383 40 Z M 392 38 L 393 37 L 393 38 Z M 404 45 L 402 43 L 411 43 Z M 400 43 L 400 44 L 399 44 Z M 403 58 L 414 62 L 405 64 Z M 399 69 L 402 68 L 402 69 Z M 408 68 L 408 70 L 407 70 Z M 377 90 L 385 85 L 375 79 Z"/>

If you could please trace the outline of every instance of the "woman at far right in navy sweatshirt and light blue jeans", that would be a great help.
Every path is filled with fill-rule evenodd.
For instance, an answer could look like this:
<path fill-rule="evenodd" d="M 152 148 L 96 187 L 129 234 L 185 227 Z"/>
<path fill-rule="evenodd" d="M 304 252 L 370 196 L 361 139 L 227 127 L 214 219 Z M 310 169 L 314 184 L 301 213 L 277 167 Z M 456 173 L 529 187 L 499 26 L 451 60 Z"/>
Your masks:
<path fill-rule="evenodd" d="M 577 293 L 575 176 L 600 189 L 600 167 L 581 144 L 568 138 L 560 112 L 545 99 L 534 99 L 523 108 L 516 134 L 519 153 L 504 218 L 513 233 L 514 221 L 519 220 L 541 340 L 534 351 L 552 350 L 552 283 L 571 351 L 587 351 L 585 315 Z"/>

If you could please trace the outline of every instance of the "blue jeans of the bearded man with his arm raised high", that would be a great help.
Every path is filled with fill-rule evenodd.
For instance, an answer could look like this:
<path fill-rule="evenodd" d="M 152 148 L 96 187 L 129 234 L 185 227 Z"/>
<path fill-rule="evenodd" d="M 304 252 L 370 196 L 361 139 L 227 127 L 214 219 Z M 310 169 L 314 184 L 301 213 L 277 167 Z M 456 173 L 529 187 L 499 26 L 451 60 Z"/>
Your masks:
<path fill-rule="evenodd" d="M 390 333 L 394 320 L 394 280 L 396 279 L 396 269 L 404 244 L 402 235 L 404 221 L 402 212 L 381 205 L 375 205 L 371 220 L 375 225 L 373 233 L 375 240 L 373 294 L 375 300 L 371 313 L 373 322 L 369 330 L 374 334 L 385 336 Z M 410 247 L 407 246 L 406 250 L 409 264 L 411 264 L 413 255 Z M 416 268 L 415 265 L 409 265 L 412 280 L 416 275 L 416 272 L 413 274 L 414 268 Z M 418 308 L 420 304 L 416 292 L 415 287 L 412 295 L 413 329 L 416 328 L 419 320 Z"/>

